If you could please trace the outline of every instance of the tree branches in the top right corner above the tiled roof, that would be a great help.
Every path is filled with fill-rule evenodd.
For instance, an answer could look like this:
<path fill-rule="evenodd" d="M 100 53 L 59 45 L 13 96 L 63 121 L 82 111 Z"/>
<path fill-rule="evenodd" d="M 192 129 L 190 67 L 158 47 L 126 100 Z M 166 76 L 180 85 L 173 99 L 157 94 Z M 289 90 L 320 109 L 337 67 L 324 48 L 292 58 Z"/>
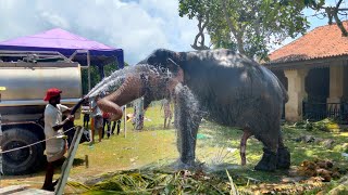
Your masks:
<path fill-rule="evenodd" d="M 348 8 L 340 8 L 343 3 L 344 0 L 338 0 L 334 6 L 330 6 L 325 5 L 325 0 L 304 0 L 307 6 L 316 11 L 314 16 L 322 15 L 323 17 L 327 17 L 330 25 L 332 25 L 333 20 L 335 20 L 336 25 L 341 31 L 341 36 L 348 37 L 348 31 L 339 18 L 339 15 L 347 16 Z"/>

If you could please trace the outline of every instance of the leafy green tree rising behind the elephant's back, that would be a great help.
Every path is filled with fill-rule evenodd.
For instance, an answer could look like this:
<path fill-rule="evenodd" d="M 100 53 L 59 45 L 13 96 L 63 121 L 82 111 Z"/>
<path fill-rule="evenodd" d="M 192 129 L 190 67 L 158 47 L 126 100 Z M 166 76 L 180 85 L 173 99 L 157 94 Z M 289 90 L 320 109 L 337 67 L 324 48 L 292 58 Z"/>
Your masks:
<path fill-rule="evenodd" d="M 179 0 L 179 15 L 203 24 L 214 48 L 260 60 L 268 58 L 270 47 L 306 32 L 303 8 L 303 1 L 286 0 Z M 198 36 L 202 37 L 203 30 L 200 28 Z"/>

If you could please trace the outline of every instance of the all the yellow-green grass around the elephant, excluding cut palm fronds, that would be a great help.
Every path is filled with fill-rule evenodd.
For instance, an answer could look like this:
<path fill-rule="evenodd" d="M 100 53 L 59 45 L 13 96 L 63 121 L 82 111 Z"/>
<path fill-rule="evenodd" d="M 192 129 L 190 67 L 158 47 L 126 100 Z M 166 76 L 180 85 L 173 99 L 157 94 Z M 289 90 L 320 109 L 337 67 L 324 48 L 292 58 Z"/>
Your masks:
<path fill-rule="evenodd" d="M 132 113 L 127 108 L 127 113 Z M 122 171 L 137 170 L 144 174 L 149 174 L 149 168 L 161 171 L 171 171 L 170 166 L 178 158 L 176 151 L 176 132 L 173 129 L 163 129 L 163 110 L 160 105 L 154 104 L 146 112 L 144 130 L 133 130 L 130 122 L 126 123 L 127 131 L 120 135 L 112 135 L 94 146 L 80 144 L 74 161 L 74 167 L 70 173 L 72 180 L 94 184 L 97 181 L 110 179 L 113 176 L 124 174 Z M 76 120 L 76 125 L 82 125 L 82 118 Z M 123 123 L 122 123 L 123 126 Z M 328 159 L 341 168 L 348 167 L 348 159 L 341 156 L 343 144 L 347 143 L 348 132 L 324 132 L 318 130 L 308 131 L 291 126 L 282 128 L 284 141 L 291 153 L 291 167 L 300 166 L 303 160 Z M 260 187 L 262 184 L 277 184 L 283 178 L 289 177 L 287 171 L 262 172 L 254 171 L 253 167 L 262 155 L 262 144 L 250 138 L 247 144 L 247 166 L 241 167 L 239 157 L 239 142 L 241 131 L 235 128 L 222 127 L 213 122 L 202 121 L 198 132 L 197 159 L 209 168 L 204 170 L 208 174 L 220 178 L 223 183 L 228 183 L 226 169 L 233 182 L 240 191 L 258 191 L 252 187 Z M 313 135 L 321 139 L 333 139 L 335 143 L 332 148 L 325 148 L 322 143 L 303 143 L 294 140 L 303 135 Z M 98 136 L 96 136 L 98 140 Z M 236 148 L 236 151 L 233 151 Z M 88 156 L 88 168 L 85 156 Z M 39 181 L 44 181 L 44 171 L 35 174 L 39 176 Z M 151 173 L 152 174 L 152 173 Z M 335 183 L 336 182 L 336 183 Z M 327 188 L 338 185 L 337 181 L 325 184 Z M 202 184 L 202 186 L 206 184 Z M 304 184 L 303 184 L 304 185 Z M 299 183 L 291 184 L 289 188 L 302 186 Z M 76 187 L 75 187 L 76 188 Z M 77 187 L 78 188 L 78 187 Z M 323 187 L 320 187 L 323 188 Z M 326 190 L 327 190 L 326 188 Z M 76 192 L 70 186 L 67 192 Z M 307 194 L 315 194 L 321 190 L 307 191 Z M 109 191 L 90 192 L 90 194 L 113 194 Z M 141 193 L 140 193 L 141 194 Z"/>

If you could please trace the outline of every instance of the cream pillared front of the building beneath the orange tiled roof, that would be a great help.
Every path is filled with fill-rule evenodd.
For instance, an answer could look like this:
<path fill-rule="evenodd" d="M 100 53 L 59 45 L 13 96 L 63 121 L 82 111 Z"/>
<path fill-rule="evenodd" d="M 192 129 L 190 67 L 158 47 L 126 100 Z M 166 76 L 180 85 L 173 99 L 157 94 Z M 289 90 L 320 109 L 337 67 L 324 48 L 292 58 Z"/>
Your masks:
<path fill-rule="evenodd" d="M 338 106 L 339 103 L 348 102 L 348 60 L 345 58 L 338 56 L 301 61 L 282 64 L 283 67 L 277 69 L 271 68 L 288 90 L 289 101 L 285 105 L 287 120 L 302 119 L 303 100 L 335 105 L 338 103 Z"/>

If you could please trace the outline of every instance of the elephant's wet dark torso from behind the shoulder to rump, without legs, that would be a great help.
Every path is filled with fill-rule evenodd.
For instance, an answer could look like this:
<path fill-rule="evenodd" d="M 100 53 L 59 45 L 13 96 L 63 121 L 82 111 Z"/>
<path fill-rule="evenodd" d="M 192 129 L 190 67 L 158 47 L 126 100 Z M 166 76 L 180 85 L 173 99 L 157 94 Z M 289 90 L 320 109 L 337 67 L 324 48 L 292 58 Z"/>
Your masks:
<path fill-rule="evenodd" d="M 187 84 L 215 121 L 233 125 L 264 110 L 279 113 L 282 91 L 272 72 L 229 50 L 195 55 L 185 73 Z"/>

